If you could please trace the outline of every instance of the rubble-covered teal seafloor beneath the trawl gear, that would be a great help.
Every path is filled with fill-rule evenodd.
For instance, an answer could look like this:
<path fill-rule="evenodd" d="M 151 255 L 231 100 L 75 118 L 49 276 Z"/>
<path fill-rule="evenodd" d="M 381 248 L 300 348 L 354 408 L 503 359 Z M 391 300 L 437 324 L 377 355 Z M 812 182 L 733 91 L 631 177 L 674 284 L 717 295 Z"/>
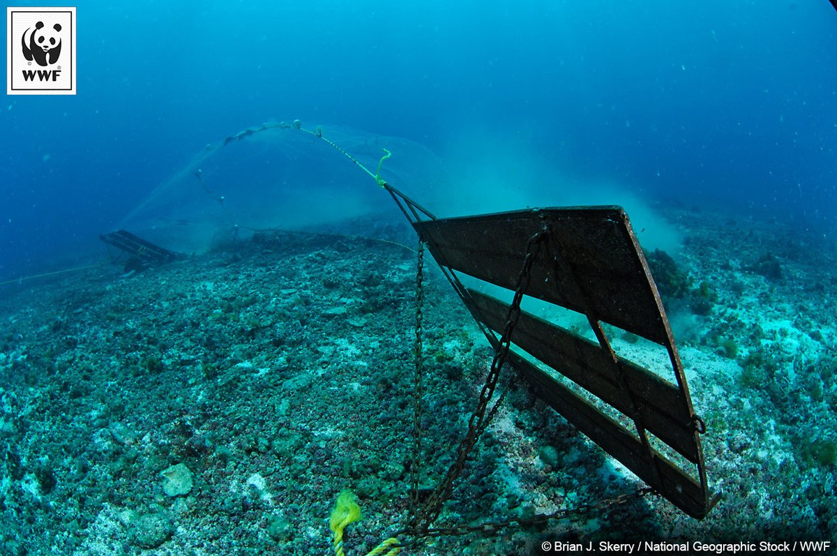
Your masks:
<path fill-rule="evenodd" d="M 778 222 L 670 215 L 684 245 L 649 259 L 721 502 L 699 522 L 644 497 L 403 554 L 834 540 L 833 242 Z M 326 554 L 345 488 L 363 511 L 347 528 L 349 553 L 403 527 L 415 254 L 398 245 L 405 229 L 376 234 L 259 234 L 131 275 L 102 265 L 0 286 L 0 554 Z M 432 486 L 464 435 L 490 348 L 438 271 L 424 294 L 421 472 Z M 637 349 L 627 335 L 615 342 Z M 518 384 L 439 524 L 638 486 Z"/>

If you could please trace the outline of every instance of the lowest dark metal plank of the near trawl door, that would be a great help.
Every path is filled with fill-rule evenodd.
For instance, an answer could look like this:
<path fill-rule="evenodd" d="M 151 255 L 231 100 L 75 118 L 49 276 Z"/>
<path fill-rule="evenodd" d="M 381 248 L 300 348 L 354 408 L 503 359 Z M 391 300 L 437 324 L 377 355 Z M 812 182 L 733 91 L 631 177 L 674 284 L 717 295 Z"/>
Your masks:
<path fill-rule="evenodd" d="M 691 517 L 702 519 L 711 509 L 708 493 L 700 484 L 664 456 L 649 452 L 622 425 L 610 419 L 574 394 L 554 378 L 509 353 L 509 362 L 529 381 L 531 388 L 547 404 L 614 456 L 645 483 Z"/>

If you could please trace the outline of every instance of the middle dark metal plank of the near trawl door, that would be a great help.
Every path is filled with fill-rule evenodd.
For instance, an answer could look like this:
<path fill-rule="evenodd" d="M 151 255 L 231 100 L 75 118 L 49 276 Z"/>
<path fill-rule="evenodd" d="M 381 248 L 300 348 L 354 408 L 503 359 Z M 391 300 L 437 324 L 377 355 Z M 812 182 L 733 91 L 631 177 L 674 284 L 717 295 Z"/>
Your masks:
<path fill-rule="evenodd" d="M 480 312 L 480 320 L 492 330 L 502 332 L 509 306 L 480 291 L 468 291 Z M 639 409 L 639 415 L 635 415 L 629 393 L 624 392 L 615 376 L 613 362 L 597 342 L 590 342 L 525 311 L 521 312 L 511 341 L 630 419 L 639 417 L 650 433 L 689 461 L 698 461 L 700 452 L 696 432 L 690 426 L 686 397 L 674 384 L 619 358 L 619 366 Z"/>

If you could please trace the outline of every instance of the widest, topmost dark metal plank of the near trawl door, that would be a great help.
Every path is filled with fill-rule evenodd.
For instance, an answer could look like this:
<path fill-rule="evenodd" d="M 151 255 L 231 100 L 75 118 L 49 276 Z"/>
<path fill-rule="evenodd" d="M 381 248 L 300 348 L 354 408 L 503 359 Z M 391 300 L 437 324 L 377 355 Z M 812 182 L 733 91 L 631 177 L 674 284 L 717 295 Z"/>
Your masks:
<path fill-rule="evenodd" d="M 512 290 L 526 243 L 548 230 L 526 295 L 667 342 L 659 297 L 619 207 L 534 209 L 413 227 L 440 265 Z"/>

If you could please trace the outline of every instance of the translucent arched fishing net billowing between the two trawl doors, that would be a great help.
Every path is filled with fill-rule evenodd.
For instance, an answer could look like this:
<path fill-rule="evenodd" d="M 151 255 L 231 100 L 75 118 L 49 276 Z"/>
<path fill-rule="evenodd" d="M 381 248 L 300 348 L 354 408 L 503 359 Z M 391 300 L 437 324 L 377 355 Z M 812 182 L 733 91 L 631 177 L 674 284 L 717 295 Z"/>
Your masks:
<path fill-rule="evenodd" d="M 416 142 L 344 126 L 268 122 L 208 145 L 154 188 L 119 228 L 183 253 L 246 239 L 260 229 L 327 227 L 358 234 L 362 221 L 374 234 L 376 227 L 406 224 L 373 179 L 384 149 L 392 152 L 381 167 L 388 183 L 422 199 L 446 189 L 439 158 Z M 354 223 L 351 230 L 341 229 L 348 223 Z"/>

